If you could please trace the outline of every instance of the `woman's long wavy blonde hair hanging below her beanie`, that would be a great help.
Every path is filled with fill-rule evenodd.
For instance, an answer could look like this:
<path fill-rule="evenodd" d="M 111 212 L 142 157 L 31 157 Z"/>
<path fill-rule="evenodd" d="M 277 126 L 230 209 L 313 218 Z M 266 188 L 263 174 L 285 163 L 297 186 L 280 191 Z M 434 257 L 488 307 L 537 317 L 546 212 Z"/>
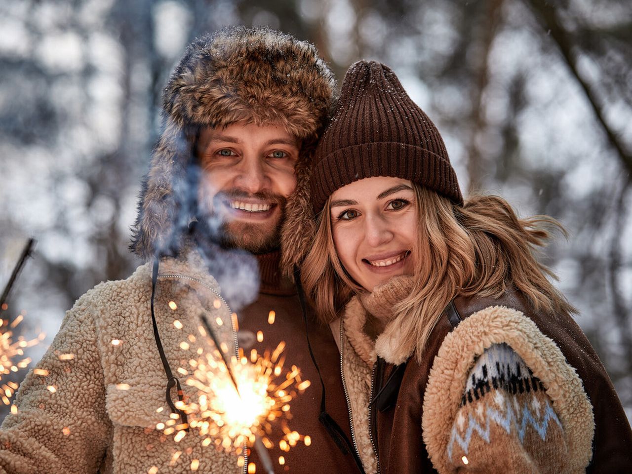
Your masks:
<path fill-rule="evenodd" d="M 549 240 L 547 228 L 559 229 L 552 217 L 519 219 L 498 196 L 477 195 L 463 206 L 413 183 L 418 239 L 413 248 L 415 274 L 410 295 L 394 308 L 403 344 L 422 358 L 430 332 L 455 296 L 501 296 L 517 289 L 535 310 L 574 313 L 576 310 L 549 282 L 552 271 L 535 258 Z M 305 257 L 301 280 L 320 319 L 329 323 L 351 297 L 363 291 L 337 257 L 331 229 L 331 197 L 317 216 L 317 231 Z"/>

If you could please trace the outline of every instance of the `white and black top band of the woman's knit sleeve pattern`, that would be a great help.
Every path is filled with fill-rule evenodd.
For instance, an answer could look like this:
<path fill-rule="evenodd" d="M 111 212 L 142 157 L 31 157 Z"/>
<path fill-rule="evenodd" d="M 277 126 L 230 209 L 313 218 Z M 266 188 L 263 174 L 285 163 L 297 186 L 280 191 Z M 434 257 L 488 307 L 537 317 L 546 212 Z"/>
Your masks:
<path fill-rule="evenodd" d="M 507 344 L 492 344 L 471 369 L 461 406 L 478 400 L 491 389 L 516 394 L 537 392 L 544 387 L 511 347 Z"/>

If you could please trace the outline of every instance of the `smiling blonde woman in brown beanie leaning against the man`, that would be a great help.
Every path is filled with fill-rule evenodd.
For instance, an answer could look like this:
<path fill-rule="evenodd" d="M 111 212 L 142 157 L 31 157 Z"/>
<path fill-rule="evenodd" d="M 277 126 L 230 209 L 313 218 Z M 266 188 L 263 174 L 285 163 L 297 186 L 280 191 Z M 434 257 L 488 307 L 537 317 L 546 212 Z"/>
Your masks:
<path fill-rule="evenodd" d="M 629 467 L 611 381 L 533 256 L 559 224 L 464 202 L 439 131 L 386 66 L 349 69 L 310 187 L 315 222 L 290 209 L 286 250 L 315 238 L 287 258 L 307 254 L 305 291 L 340 339 L 365 471 Z"/>

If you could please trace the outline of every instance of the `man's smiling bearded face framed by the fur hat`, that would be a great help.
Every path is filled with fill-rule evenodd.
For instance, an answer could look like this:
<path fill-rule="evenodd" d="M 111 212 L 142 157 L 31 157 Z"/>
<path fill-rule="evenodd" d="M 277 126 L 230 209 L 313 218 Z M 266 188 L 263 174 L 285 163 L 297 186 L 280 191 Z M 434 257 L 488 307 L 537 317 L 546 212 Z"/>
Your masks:
<path fill-rule="evenodd" d="M 233 123 L 198 138 L 203 216 L 218 216 L 227 246 L 253 253 L 279 245 L 286 198 L 295 190 L 300 143 L 277 125 Z"/>

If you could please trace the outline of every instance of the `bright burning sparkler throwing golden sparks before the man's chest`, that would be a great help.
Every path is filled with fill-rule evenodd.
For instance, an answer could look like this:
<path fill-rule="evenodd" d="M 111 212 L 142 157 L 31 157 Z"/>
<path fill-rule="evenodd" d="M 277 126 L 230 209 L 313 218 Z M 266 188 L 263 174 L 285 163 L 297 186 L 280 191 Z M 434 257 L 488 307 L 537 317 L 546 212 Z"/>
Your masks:
<path fill-rule="evenodd" d="M 242 454 L 247 444 L 257 450 L 265 471 L 273 472 L 265 449 L 273 444 L 267 435 L 272 431 L 272 423 L 291 418 L 289 403 L 310 386 L 310 381 L 301 380 L 300 370 L 295 365 L 284 373 L 283 341 L 274 351 L 267 349 L 260 354 L 252 349 L 248 357 L 240 348 L 238 357 L 229 358 L 226 344 L 219 343 L 204 317 L 202 321 L 205 327 L 200 326 L 198 331 L 203 337 L 210 337 L 216 349 L 198 348 L 198 358 L 188 361 L 189 368 L 178 368 L 180 374 L 189 375 L 185 384 L 196 389 L 195 396 L 176 402 L 176 408 L 185 411 L 189 423 L 176 425 L 177 421 L 171 418 L 166 423 L 158 423 L 157 429 L 166 435 L 173 434 L 174 441 L 178 442 L 186 436 L 186 428 L 191 428 L 202 439 L 202 446 L 214 445 L 236 454 Z M 195 337 L 187 339 L 195 341 Z M 262 333 L 258 339 L 263 339 Z M 184 342 L 188 349 L 190 346 Z M 311 442 L 309 436 L 289 430 L 286 423 L 283 430 L 280 447 L 284 451 L 289 451 L 298 441 L 303 440 L 307 446 Z M 243 459 L 240 456 L 241 465 Z M 285 463 L 283 456 L 279 463 Z"/>

